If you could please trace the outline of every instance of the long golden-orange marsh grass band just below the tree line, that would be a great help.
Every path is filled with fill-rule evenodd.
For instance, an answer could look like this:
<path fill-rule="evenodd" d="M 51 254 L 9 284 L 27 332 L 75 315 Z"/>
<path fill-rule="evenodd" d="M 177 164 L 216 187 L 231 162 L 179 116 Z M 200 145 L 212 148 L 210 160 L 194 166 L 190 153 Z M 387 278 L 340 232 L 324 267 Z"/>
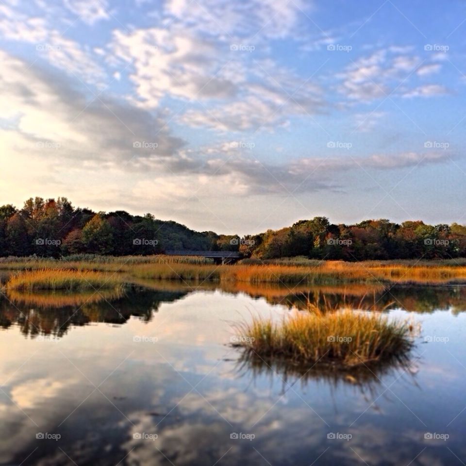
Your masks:
<path fill-rule="evenodd" d="M 466 283 L 464 261 L 290 261 L 257 264 L 239 262 L 217 266 L 199 257 L 177 256 L 71 256 L 61 260 L 7 258 L 0 260 L 4 270 L 55 270 L 57 273 L 112 272 L 133 279 L 178 280 L 183 282 L 278 283 L 332 285 L 339 283 Z"/>

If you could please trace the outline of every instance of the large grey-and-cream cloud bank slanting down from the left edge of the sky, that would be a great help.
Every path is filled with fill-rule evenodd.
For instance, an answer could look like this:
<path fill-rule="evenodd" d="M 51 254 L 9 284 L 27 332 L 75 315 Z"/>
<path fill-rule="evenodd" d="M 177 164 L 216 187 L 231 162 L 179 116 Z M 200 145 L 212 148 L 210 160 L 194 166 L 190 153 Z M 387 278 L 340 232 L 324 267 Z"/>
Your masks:
<path fill-rule="evenodd" d="M 118 166 L 169 159 L 184 145 L 170 135 L 163 115 L 104 95 L 89 100 L 59 74 L 4 52 L 0 59 L 0 114 L 15 122 L 17 135 L 11 151 L 67 164 Z"/>

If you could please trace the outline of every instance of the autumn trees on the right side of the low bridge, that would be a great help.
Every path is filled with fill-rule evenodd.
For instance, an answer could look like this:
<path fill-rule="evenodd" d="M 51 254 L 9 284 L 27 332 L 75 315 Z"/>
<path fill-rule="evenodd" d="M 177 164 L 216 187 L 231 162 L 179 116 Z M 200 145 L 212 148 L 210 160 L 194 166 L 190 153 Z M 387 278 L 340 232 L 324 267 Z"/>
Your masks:
<path fill-rule="evenodd" d="M 398 224 L 387 219 L 335 225 L 326 217 L 315 217 L 251 236 L 250 243 L 253 246 L 244 249 L 262 259 L 450 259 L 466 257 L 466 226 L 428 225 L 421 220 Z"/>

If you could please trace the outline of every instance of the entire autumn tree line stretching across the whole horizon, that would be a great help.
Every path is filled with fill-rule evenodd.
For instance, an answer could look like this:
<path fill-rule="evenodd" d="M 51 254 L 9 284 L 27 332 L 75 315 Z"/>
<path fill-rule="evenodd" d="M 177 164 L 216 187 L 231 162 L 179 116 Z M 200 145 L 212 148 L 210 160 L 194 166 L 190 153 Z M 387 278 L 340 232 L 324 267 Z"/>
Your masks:
<path fill-rule="evenodd" d="M 466 257 L 466 226 L 401 224 L 386 219 L 354 225 L 326 217 L 248 235 L 196 232 L 151 214 L 94 212 L 74 208 L 67 198 L 30 198 L 21 209 L 0 207 L 0 256 L 60 257 L 91 253 L 147 255 L 166 250 L 230 250 L 259 259 L 305 256 L 315 259 L 383 260 Z"/>

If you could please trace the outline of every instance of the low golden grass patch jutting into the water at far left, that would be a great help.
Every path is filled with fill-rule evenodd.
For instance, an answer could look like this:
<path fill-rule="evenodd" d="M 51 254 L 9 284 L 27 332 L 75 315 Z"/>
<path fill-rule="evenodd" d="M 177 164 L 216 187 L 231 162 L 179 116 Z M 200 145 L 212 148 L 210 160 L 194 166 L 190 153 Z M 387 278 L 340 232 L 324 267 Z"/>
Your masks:
<path fill-rule="evenodd" d="M 44 269 L 19 272 L 8 280 L 7 291 L 35 290 L 100 290 L 123 287 L 121 277 L 112 273 L 76 271 L 67 269 Z"/>

